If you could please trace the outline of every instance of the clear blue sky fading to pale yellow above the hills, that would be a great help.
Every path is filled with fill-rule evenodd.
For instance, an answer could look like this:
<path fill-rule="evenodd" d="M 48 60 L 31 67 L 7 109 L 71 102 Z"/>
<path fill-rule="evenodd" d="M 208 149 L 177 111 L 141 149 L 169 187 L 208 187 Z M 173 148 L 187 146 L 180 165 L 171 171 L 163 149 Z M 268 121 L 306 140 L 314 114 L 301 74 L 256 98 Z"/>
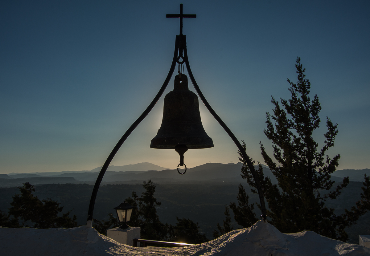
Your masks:
<path fill-rule="evenodd" d="M 260 141 L 272 153 L 266 112 L 271 96 L 289 99 L 299 56 L 322 106 L 314 139 L 323 145 L 329 117 L 339 124 L 328 151 L 341 155 L 337 169 L 370 168 L 369 1 L 4 0 L 0 173 L 102 166 L 168 74 L 179 19 L 166 14 L 180 3 L 197 15 L 183 28 L 195 80 L 249 156 L 263 163 Z M 149 148 L 173 85 L 174 76 L 111 165 L 176 168 L 174 150 Z M 186 166 L 238 162 L 235 144 L 202 103 L 200 111 L 215 146 L 186 152 Z"/>

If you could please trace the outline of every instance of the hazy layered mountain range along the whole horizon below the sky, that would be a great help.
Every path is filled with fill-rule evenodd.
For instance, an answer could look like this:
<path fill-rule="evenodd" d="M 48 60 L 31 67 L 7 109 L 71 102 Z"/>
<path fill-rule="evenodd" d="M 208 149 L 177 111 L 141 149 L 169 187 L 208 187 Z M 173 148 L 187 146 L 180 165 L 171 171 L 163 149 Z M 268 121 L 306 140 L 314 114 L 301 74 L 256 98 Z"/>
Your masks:
<path fill-rule="evenodd" d="M 265 176 L 269 176 L 272 183 L 277 183 L 275 176 L 266 165 L 263 166 Z M 208 163 L 189 168 L 186 174 L 180 175 L 176 169 L 167 169 L 151 163 L 139 163 L 108 167 L 102 184 L 141 183 L 151 179 L 156 183 L 197 183 L 197 182 L 245 182 L 240 176 L 242 163 L 221 164 Z M 50 183 L 88 183 L 93 184 L 100 172 L 101 167 L 91 171 L 63 171 L 63 172 L 36 172 L 26 174 L 2 174 L 0 175 L 0 187 L 21 186 L 25 182 L 33 185 Z M 332 174 L 332 180 L 340 182 L 343 177 L 350 176 L 350 181 L 363 181 L 363 175 L 370 175 L 370 169 L 363 170 L 338 170 Z"/>

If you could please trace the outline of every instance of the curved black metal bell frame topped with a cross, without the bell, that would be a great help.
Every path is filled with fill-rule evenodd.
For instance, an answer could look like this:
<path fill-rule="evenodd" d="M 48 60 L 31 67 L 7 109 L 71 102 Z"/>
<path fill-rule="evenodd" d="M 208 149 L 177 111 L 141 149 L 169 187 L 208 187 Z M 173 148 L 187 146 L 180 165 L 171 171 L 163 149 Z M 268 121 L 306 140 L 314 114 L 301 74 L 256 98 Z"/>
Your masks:
<path fill-rule="evenodd" d="M 190 68 L 189 59 L 188 59 L 188 51 L 186 50 L 186 36 L 182 34 L 182 18 L 196 18 L 196 14 L 183 14 L 182 13 L 182 4 L 180 4 L 180 14 L 167 14 L 167 18 L 180 18 L 180 34 L 176 35 L 175 40 L 175 52 L 174 52 L 174 58 L 172 59 L 171 68 L 169 69 L 168 75 L 162 85 L 162 87 L 159 89 L 157 95 L 155 95 L 152 102 L 149 104 L 149 106 L 145 109 L 145 111 L 136 119 L 136 121 L 128 128 L 128 130 L 124 133 L 124 135 L 121 137 L 121 139 L 117 142 L 115 147 L 113 148 L 112 152 L 109 154 L 107 160 L 105 160 L 104 165 L 101 168 L 101 171 L 98 175 L 98 178 L 95 181 L 94 189 L 92 190 L 91 198 L 90 198 L 90 205 L 88 209 L 87 214 L 87 226 L 92 226 L 92 215 L 94 213 L 94 205 L 95 205 L 95 199 L 98 194 L 98 189 L 100 186 L 100 183 L 103 179 L 103 176 L 105 172 L 108 169 L 109 164 L 111 163 L 112 159 L 114 158 L 115 154 L 118 152 L 118 149 L 122 146 L 122 144 L 125 142 L 125 140 L 128 138 L 128 136 L 131 134 L 132 131 L 141 123 L 142 120 L 149 114 L 149 112 L 153 109 L 155 104 L 158 102 L 159 98 L 161 98 L 163 92 L 165 91 L 169 81 L 172 78 L 172 74 L 175 71 L 176 64 L 184 64 L 186 66 L 186 70 L 188 71 L 188 75 L 190 77 L 190 80 L 192 84 L 194 85 L 195 91 L 199 95 L 199 98 L 201 98 L 203 104 L 206 106 L 208 111 L 213 115 L 213 117 L 216 119 L 216 121 L 221 125 L 221 127 L 226 131 L 226 133 L 230 136 L 232 141 L 235 143 L 235 145 L 238 147 L 239 151 L 243 155 L 243 158 L 246 160 L 246 163 L 248 165 L 249 171 L 251 172 L 253 179 L 256 184 L 256 188 L 258 191 L 260 206 L 261 206 L 261 217 L 263 220 L 266 220 L 266 206 L 265 206 L 265 198 L 262 193 L 261 184 L 256 172 L 256 169 L 254 168 L 252 162 L 250 161 L 249 156 L 247 155 L 246 151 L 243 149 L 242 145 L 240 144 L 239 140 L 235 137 L 235 135 L 232 133 L 232 131 L 229 129 L 229 127 L 222 121 L 222 119 L 216 114 L 216 112 L 213 110 L 211 105 L 209 105 L 208 101 L 204 97 L 203 93 L 199 89 L 198 84 L 195 81 L 195 78 L 193 76 L 193 73 Z M 182 59 L 182 61 L 180 61 Z"/>

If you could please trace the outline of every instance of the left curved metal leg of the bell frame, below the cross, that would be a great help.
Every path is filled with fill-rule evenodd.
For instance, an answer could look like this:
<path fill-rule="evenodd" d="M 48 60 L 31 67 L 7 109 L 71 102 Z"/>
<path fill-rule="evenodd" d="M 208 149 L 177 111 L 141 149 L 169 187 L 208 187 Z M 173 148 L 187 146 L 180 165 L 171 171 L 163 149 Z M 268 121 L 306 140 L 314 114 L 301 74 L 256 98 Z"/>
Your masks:
<path fill-rule="evenodd" d="M 100 170 L 98 178 L 95 181 L 94 189 L 92 190 L 92 193 L 91 193 L 90 205 L 89 205 L 89 210 L 88 210 L 88 213 L 87 213 L 87 226 L 91 227 L 91 225 L 92 225 L 92 214 L 94 213 L 94 206 L 95 206 L 96 196 L 98 194 L 98 189 L 99 189 L 100 183 L 103 179 L 103 176 L 104 176 L 105 172 L 108 169 L 109 164 L 111 163 L 115 154 L 118 152 L 118 149 L 120 149 L 122 144 L 125 142 L 125 140 L 128 138 L 128 136 L 131 134 L 131 132 L 134 131 L 134 129 L 141 123 L 142 120 L 144 120 L 144 118 L 149 114 L 149 112 L 152 110 L 152 108 L 155 106 L 155 104 L 157 104 L 159 98 L 162 96 L 164 90 L 166 89 L 166 87 L 169 83 L 169 80 L 171 80 L 172 74 L 174 73 L 174 70 L 175 70 L 175 67 L 176 67 L 178 51 L 179 51 L 179 41 L 178 41 L 178 37 L 176 37 L 174 58 L 172 60 L 171 68 L 169 69 L 166 80 L 164 81 L 161 89 L 159 89 L 157 95 L 155 95 L 154 99 L 149 104 L 147 109 L 128 128 L 128 130 L 125 132 L 125 134 L 121 137 L 121 139 L 117 142 L 117 144 L 113 148 L 111 154 L 109 154 L 107 160 L 105 160 L 105 163 L 104 163 L 104 165 L 102 166 L 102 168 Z"/>

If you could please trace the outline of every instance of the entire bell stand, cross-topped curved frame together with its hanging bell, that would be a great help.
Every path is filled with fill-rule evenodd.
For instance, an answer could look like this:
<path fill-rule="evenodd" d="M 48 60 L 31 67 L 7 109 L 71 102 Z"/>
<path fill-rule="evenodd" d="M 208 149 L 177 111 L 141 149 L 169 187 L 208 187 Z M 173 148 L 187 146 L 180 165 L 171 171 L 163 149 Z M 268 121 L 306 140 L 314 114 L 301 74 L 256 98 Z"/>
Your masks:
<path fill-rule="evenodd" d="M 91 193 L 90 205 L 87 213 L 87 226 L 92 226 L 92 215 L 94 212 L 95 199 L 98 194 L 98 189 L 100 183 L 103 179 L 105 172 L 108 169 L 112 159 L 115 154 L 118 152 L 118 149 L 122 146 L 128 136 L 132 131 L 140 124 L 140 122 L 149 114 L 155 104 L 158 102 L 159 98 L 165 91 L 169 81 L 171 80 L 172 74 L 174 73 L 176 64 L 179 65 L 179 74 L 175 76 L 175 85 L 174 90 L 170 91 L 164 98 L 164 107 L 163 107 L 163 118 L 162 124 L 150 144 L 151 148 L 159 149 L 175 149 L 176 152 L 180 155 L 180 164 L 177 166 L 177 171 L 179 172 L 179 166 L 184 166 L 184 153 L 188 149 L 196 148 L 212 148 L 213 141 L 204 131 L 201 114 L 199 112 L 199 102 L 198 96 L 189 91 L 188 86 L 188 77 L 183 73 L 184 64 L 186 65 L 186 70 L 188 71 L 189 78 L 194 85 L 195 91 L 198 93 L 205 107 L 213 115 L 213 117 L 218 121 L 221 127 L 226 131 L 230 136 L 232 141 L 238 147 L 240 154 L 243 155 L 243 158 L 246 161 L 249 171 L 251 172 L 253 179 L 255 180 L 259 201 L 261 216 L 263 220 L 266 220 L 266 206 L 265 199 L 263 198 L 262 188 L 259 181 L 258 174 L 253 166 L 252 161 L 250 161 L 249 156 L 246 154 L 245 149 L 240 144 L 239 140 L 231 132 L 229 127 L 222 121 L 222 119 L 216 114 L 209 105 L 208 101 L 202 94 L 198 84 L 195 81 L 194 75 L 190 69 L 189 60 L 188 60 L 188 51 L 186 50 L 186 36 L 182 34 L 182 18 L 196 18 L 195 14 L 183 14 L 182 13 L 182 4 L 180 4 L 180 14 L 167 14 L 168 18 L 180 18 L 180 34 L 176 36 L 175 41 L 175 51 L 174 58 L 172 60 L 171 68 L 168 72 L 168 75 L 159 89 L 157 95 L 154 97 L 149 106 L 145 111 L 136 119 L 136 121 L 127 129 L 121 139 L 117 142 L 115 147 L 112 149 L 112 152 L 109 154 L 107 160 L 105 160 L 104 165 L 102 166 L 98 178 L 95 181 L 94 189 Z M 180 59 L 182 59 L 180 61 Z M 180 71 L 180 65 L 182 65 L 182 71 Z M 179 172 L 179 174 L 185 174 Z M 126 215 L 125 215 L 126 216 Z"/>

